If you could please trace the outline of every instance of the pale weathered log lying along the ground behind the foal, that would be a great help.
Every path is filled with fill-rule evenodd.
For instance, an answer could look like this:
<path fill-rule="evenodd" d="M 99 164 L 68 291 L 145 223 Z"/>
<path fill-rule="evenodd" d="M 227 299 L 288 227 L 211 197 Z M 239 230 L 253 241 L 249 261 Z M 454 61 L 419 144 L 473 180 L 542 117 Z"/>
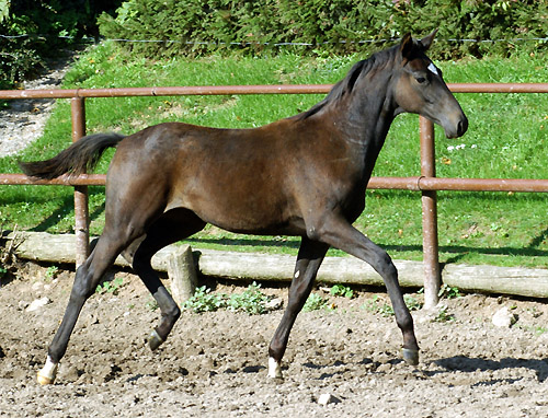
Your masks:
<path fill-rule="evenodd" d="M 75 235 L 54 235 L 44 232 L 18 232 L 8 235 L 20 258 L 49 263 L 75 263 Z M 155 255 L 152 267 L 168 271 L 169 257 L 176 248 L 170 245 Z M 196 268 L 204 276 L 250 280 L 289 281 L 295 268 L 290 255 L 236 253 L 215 249 L 193 249 Z M 116 264 L 128 266 L 118 257 Z M 423 286 L 423 265 L 420 262 L 395 260 L 402 287 Z M 446 265 L 442 270 L 444 283 L 463 291 L 504 293 L 548 298 L 548 270 L 540 268 Z M 327 257 L 318 272 L 326 283 L 383 286 L 380 276 L 366 263 L 351 257 Z"/>

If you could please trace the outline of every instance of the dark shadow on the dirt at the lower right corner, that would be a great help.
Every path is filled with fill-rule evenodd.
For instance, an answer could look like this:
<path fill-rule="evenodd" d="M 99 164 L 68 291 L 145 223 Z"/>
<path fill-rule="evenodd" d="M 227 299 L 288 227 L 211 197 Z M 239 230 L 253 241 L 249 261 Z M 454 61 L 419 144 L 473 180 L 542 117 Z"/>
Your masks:
<path fill-rule="evenodd" d="M 514 358 L 490 360 L 480 358 L 469 358 L 466 356 L 455 356 L 446 359 L 435 360 L 434 363 L 445 370 L 425 371 L 424 372 L 425 375 L 434 376 L 436 374 L 453 372 L 453 371 L 473 373 L 476 371 L 484 372 L 484 371 L 496 371 L 503 369 L 529 369 L 536 373 L 539 383 L 543 383 L 548 379 L 548 358 L 539 360 L 514 359 Z M 496 383 L 496 381 L 481 382 L 481 384 L 494 384 L 494 383 Z"/>

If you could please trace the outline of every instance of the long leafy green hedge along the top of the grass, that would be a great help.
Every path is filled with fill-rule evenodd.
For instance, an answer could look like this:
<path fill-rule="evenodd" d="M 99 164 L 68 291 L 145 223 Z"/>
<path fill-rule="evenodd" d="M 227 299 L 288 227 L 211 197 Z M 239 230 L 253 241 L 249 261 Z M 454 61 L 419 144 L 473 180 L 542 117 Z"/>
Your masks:
<path fill-rule="evenodd" d="M 258 53 L 281 43 L 310 44 L 299 49 L 308 53 L 321 48 L 345 54 L 376 50 L 407 32 L 425 35 L 438 27 L 432 55 L 458 58 L 506 55 L 515 47 L 512 39 L 546 37 L 547 14 L 548 0 L 264 0 L 261 5 L 241 0 L 129 0 L 115 19 L 102 14 L 99 24 L 109 38 L 158 40 L 122 44 L 149 57 L 204 54 L 235 44 Z"/>

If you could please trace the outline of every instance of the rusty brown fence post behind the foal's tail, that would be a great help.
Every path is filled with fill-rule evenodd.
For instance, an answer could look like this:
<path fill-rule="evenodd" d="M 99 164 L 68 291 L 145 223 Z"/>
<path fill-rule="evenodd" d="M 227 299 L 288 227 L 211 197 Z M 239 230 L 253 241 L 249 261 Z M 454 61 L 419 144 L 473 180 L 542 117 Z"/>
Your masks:
<path fill-rule="evenodd" d="M 70 101 L 72 142 L 85 136 L 85 102 L 83 97 Z M 75 186 L 76 267 L 80 267 L 90 252 L 88 186 Z"/>

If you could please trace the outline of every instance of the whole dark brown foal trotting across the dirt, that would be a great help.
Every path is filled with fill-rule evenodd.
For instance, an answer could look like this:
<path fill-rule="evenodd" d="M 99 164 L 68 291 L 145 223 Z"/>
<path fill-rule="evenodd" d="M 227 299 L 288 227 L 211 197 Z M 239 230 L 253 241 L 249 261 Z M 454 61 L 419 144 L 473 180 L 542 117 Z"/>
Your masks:
<path fill-rule="evenodd" d="M 413 320 L 396 267 L 352 223 L 364 210 L 367 182 L 397 115 L 425 116 L 449 138 L 467 130 L 465 114 L 425 55 L 433 38 L 434 33 L 421 40 L 404 36 L 357 62 L 309 111 L 260 128 L 161 124 L 129 137 L 85 137 L 52 160 L 23 163 L 30 176 L 78 174 L 91 169 L 104 149 L 117 147 L 107 174 L 104 231 L 76 274 L 38 381 L 54 381 L 85 300 L 124 251 L 161 310 L 149 345 L 162 344 L 180 310 L 150 258 L 206 223 L 248 234 L 301 236 L 287 309 L 269 348 L 270 376 L 282 376 L 292 326 L 330 246 L 370 264 L 383 277 L 402 332 L 403 358 L 416 364 Z"/>

